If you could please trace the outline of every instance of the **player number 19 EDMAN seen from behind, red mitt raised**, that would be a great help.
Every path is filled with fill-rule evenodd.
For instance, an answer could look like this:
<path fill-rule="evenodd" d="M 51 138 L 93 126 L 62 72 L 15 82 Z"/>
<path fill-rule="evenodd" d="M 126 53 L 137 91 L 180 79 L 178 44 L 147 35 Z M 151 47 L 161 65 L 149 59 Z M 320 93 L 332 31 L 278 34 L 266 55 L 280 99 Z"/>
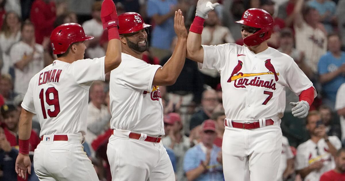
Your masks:
<path fill-rule="evenodd" d="M 29 142 L 32 116 L 41 125 L 41 142 L 34 151 L 34 171 L 44 181 L 98 181 L 91 161 L 83 152 L 89 88 L 95 80 L 105 80 L 105 73 L 121 63 L 118 17 L 111 0 L 103 2 L 107 11 L 101 14 L 108 28 L 109 44 L 105 57 L 83 59 L 86 36 L 76 23 L 53 30 L 50 41 L 57 60 L 38 72 L 29 82 L 21 104 L 19 121 L 19 155 L 16 172 L 22 178 L 30 170 Z"/>

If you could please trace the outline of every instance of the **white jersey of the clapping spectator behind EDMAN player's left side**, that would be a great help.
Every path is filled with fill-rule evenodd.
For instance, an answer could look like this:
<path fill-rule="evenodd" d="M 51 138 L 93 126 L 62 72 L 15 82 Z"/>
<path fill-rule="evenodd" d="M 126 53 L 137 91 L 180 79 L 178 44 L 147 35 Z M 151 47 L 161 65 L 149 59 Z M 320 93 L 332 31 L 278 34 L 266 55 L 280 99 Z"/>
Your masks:
<path fill-rule="evenodd" d="M 44 50 L 40 44 L 35 44 L 36 52 L 33 54 L 33 60 L 30 61 L 23 70 L 14 69 L 16 77 L 14 79 L 14 91 L 25 94 L 28 89 L 30 79 L 44 68 Z M 16 43 L 11 48 L 10 57 L 13 64 L 19 62 L 23 57 L 28 56 L 33 51 L 32 47 L 22 41 Z"/>

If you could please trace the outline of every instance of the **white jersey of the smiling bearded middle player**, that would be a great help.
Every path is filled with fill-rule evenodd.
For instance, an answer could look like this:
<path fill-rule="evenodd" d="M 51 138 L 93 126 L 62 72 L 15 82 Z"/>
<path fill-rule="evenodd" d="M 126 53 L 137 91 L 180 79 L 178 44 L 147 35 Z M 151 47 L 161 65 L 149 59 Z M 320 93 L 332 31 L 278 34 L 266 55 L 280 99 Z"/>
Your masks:
<path fill-rule="evenodd" d="M 161 67 L 122 53 L 120 66 L 110 73 L 111 129 L 164 135 L 163 106 L 158 86 Z"/>

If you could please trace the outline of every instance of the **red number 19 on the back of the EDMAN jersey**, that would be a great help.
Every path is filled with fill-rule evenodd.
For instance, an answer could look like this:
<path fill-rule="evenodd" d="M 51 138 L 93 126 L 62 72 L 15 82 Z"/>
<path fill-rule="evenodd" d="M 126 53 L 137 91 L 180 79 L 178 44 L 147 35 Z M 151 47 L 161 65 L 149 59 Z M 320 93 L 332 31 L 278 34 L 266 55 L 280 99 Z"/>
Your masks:
<path fill-rule="evenodd" d="M 50 99 L 49 95 L 53 94 L 53 99 Z M 44 93 L 44 90 L 41 89 L 40 92 L 40 100 L 41 100 L 41 108 L 42 108 L 42 114 L 43 118 L 47 119 L 46 114 L 46 108 L 44 106 L 44 96 L 46 96 L 46 102 L 48 105 L 54 105 L 54 111 L 51 111 L 50 109 L 47 110 L 47 113 L 50 118 L 56 117 L 60 112 L 60 103 L 59 103 L 59 92 L 55 89 L 55 87 L 50 87 L 46 90 L 46 93 Z"/>

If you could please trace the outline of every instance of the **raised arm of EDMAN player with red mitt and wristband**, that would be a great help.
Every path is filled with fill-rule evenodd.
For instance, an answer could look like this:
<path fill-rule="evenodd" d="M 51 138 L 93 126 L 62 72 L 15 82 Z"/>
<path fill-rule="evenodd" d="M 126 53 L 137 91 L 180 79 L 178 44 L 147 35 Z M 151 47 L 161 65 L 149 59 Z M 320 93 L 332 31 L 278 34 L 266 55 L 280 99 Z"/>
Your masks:
<path fill-rule="evenodd" d="M 104 0 L 101 8 L 103 29 L 108 28 L 108 48 L 104 61 L 104 72 L 117 68 L 121 63 L 121 41 L 118 31 L 119 18 L 112 0 Z"/>

